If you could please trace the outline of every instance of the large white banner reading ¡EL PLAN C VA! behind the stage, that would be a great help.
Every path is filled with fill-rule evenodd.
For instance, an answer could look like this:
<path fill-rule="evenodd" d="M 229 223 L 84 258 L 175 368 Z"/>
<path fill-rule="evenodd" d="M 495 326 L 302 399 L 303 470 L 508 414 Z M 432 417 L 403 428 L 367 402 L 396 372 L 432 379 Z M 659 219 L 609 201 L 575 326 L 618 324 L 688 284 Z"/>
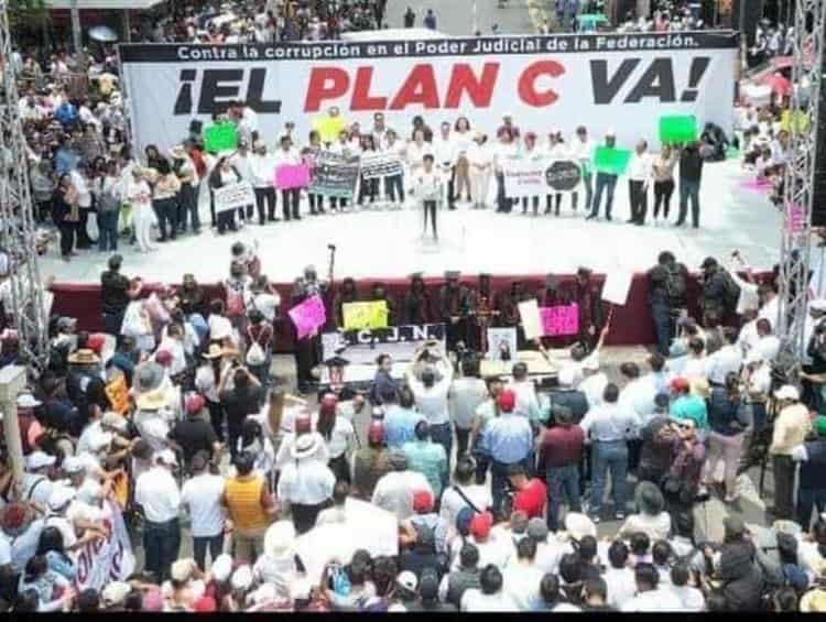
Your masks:
<path fill-rule="evenodd" d="M 731 130 L 737 48 L 729 31 L 119 46 L 137 150 L 181 142 L 233 100 L 256 110 L 268 142 L 287 121 L 304 139 L 338 106 L 362 130 L 382 111 L 404 139 L 417 114 L 434 130 L 467 116 L 492 137 L 511 112 L 523 133 L 584 124 L 597 140 L 613 128 L 619 146 L 655 146 L 666 114 Z"/>

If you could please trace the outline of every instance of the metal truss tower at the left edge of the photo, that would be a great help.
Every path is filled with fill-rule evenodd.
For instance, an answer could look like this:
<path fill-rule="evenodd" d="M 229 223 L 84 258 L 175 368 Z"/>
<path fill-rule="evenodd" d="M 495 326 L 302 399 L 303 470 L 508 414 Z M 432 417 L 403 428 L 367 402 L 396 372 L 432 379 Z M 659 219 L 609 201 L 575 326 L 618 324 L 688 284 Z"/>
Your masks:
<path fill-rule="evenodd" d="M 11 65 L 7 0 L 0 0 L 0 247 L 9 257 L 12 326 L 29 364 L 43 367 L 48 353 L 48 317 L 37 266 L 29 157 Z"/>

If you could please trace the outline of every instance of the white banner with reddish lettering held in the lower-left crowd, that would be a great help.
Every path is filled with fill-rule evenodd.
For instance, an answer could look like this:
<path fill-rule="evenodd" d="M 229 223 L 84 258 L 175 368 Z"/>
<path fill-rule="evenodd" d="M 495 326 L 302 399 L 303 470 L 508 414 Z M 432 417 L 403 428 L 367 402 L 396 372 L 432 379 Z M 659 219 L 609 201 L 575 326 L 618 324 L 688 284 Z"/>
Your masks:
<path fill-rule="evenodd" d="M 91 588 L 100 590 L 110 581 L 123 581 L 134 572 L 134 555 L 127 525 L 118 505 L 107 501 L 105 521 L 109 524 L 109 537 L 86 544 L 75 559 L 77 591 Z"/>

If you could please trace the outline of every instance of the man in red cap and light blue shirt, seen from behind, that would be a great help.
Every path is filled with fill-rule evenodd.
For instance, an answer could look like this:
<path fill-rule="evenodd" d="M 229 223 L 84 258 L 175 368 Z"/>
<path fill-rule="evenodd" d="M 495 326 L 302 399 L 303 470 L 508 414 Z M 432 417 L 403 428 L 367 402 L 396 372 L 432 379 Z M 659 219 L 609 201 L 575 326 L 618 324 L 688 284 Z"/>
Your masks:
<path fill-rule="evenodd" d="M 483 441 L 492 459 L 493 512 L 499 514 L 502 512 L 510 467 L 522 465 L 533 469 L 533 465 L 528 463 L 533 451 L 533 430 L 528 418 L 514 413 L 517 396 L 513 391 L 506 389 L 497 402 L 501 414 L 488 422 Z"/>

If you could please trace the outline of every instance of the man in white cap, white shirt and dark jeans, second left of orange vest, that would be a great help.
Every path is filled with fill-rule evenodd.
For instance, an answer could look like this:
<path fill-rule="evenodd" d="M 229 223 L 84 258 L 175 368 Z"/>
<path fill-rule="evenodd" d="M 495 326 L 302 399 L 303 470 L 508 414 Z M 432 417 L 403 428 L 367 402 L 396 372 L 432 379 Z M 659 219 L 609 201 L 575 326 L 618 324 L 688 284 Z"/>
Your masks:
<path fill-rule="evenodd" d="M 134 502 L 143 509 L 144 567 L 159 582 L 170 579 L 172 563 L 181 547 L 181 491 L 173 477 L 177 467 L 170 449 L 154 456 L 154 467 L 142 473 L 134 485 Z"/>

